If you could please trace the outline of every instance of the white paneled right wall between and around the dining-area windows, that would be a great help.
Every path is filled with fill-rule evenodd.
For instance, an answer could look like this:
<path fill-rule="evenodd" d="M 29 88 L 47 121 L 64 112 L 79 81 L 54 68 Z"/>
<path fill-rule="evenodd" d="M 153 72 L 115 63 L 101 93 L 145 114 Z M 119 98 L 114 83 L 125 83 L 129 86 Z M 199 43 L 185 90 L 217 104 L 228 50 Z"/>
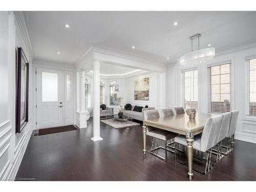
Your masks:
<path fill-rule="evenodd" d="M 217 55 L 209 62 L 198 67 L 198 100 L 199 112 L 207 113 L 208 108 L 208 73 L 207 65 L 211 63 L 231 60 L 231 102 L 232 110 L 239 110 L 236 129 L 236 139 L 256 143 L 256 118 L 245 117 L 245 57 L 254 55 L 256 47 L 236 51 L 228 54 Z M 179 63 L 169 67 L 167 72 L 167 103 L 169 107 L 181 106 L 181 82 Z"/>

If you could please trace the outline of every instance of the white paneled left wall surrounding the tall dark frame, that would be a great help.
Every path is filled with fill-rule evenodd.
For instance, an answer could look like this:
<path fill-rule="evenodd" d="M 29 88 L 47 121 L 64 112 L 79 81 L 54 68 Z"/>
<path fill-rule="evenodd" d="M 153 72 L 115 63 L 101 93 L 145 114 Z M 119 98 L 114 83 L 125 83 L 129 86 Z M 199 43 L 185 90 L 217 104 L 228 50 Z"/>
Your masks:
<path fill-rule="evenodd" d="M 22 15 L 0 12 L 0 178 L 13 179 L 22 161 L 33 130 L 33 74 L 29 65 L 29 120 L 21 133 L 15 134 L 15 49 L 22 47 L 28 58 L 31 52 L 24 31 Z M 2 35 L 3 34 L 3 35 Z"/>

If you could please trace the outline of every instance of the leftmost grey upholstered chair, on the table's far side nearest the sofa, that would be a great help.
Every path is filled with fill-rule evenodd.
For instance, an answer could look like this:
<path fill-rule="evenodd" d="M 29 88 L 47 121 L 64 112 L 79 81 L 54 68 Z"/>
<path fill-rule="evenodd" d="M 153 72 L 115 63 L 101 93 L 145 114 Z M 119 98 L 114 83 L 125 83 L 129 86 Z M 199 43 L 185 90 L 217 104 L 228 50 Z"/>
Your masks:
<path fill-rule="evenodd" d="M 148 110 L 148 111 L 144 111 L 143 113 L 144 113 L 144 120 L 154 119 L 159 117 L 158 110 Z M 151 137 L 151 142 L 152 142 L 151 150 L 149 151 L 149 153 L 159 157 L 164 161 L 167 161 L 167 151 L 172 152 L 167 148 L 167 144 L 170 141 L 170 139 L 175 138 L 177 134 L 168 132 L 165 130 L 161 130 L 161 129 L 156 129 L 155 127 L 147 126 L 146 135 Z M 164 141 L 164 147 L 158 144 L 158 140 Z M 165 151 L 165 157 L 158 155 L 158 150 L 160 148 L 162 148 Z"/>

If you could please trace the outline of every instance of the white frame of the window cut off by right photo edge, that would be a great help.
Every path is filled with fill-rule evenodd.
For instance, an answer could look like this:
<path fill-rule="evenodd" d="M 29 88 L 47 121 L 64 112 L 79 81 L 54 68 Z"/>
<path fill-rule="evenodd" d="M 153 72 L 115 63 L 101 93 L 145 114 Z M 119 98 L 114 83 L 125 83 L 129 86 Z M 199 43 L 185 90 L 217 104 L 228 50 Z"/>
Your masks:
<path fill-rule="evenodd" d="M 249 115 L 249 103 L 250 103 L 250 93 L 249 93 L 249 80 L 250 80 L 250 60 L 251 59 L 256 59 L 256 55 L 251 55 L 251 56 L 246 56 L 245 57 L 245 118 L 251 119 L 251 120 L 256 120 L 256 115 Z"/>

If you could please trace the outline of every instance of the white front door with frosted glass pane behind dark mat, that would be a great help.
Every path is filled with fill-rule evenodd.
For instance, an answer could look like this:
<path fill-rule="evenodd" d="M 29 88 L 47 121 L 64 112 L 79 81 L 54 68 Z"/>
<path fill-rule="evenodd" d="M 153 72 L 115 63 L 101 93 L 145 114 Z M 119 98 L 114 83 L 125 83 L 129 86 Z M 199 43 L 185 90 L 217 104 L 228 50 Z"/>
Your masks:
<path fill-rule="evenodd" d="M 37 128 L 62 126 L 63 71 L 36 68 Z"/>

